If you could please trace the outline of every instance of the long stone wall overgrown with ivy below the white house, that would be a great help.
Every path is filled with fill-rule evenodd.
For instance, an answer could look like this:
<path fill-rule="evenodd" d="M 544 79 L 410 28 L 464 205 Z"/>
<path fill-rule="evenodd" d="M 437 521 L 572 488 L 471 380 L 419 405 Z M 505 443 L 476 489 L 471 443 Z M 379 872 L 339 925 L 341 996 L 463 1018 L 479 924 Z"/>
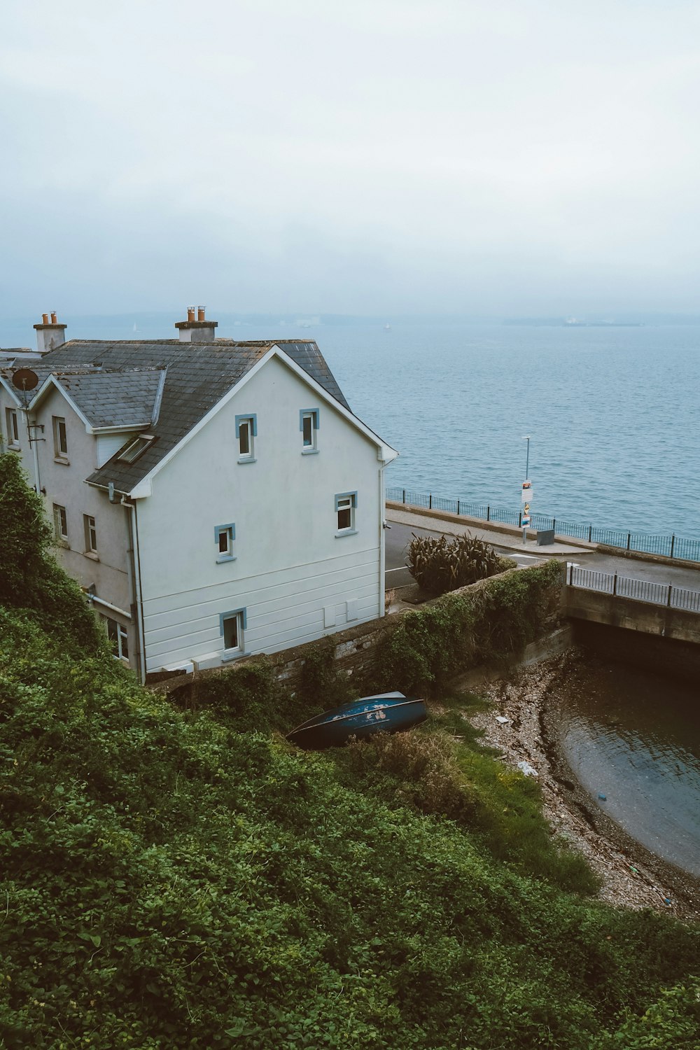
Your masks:
<path fill-rule="evenodd" d="M 152 688 L 199 707 L 219 702 L 225 695 L 235 699 L 238 686 L 248 695 L 255 669 L 295 700 L 300 713 L 389 689 L 430 695 L 480 664 L 513 659 L 530 642 L 553 630 L 563 582 L 563 568 L 554 561 L 510 569 L 297 649 Z"/>

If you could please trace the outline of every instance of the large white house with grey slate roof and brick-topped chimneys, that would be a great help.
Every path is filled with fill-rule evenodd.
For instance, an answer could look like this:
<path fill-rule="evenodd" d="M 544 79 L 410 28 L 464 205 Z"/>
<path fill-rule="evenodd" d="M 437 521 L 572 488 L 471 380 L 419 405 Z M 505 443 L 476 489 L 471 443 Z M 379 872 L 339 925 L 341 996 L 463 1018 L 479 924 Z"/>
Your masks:
<path fill-rule="evenodd" d="M 142 680 L 384 614 L 398 454 L 313 340 L 216 338 L 201 309 L 178 339 L 64 342 L 46 321 L 40 358 L 0 362 L 4 449 Z"/>

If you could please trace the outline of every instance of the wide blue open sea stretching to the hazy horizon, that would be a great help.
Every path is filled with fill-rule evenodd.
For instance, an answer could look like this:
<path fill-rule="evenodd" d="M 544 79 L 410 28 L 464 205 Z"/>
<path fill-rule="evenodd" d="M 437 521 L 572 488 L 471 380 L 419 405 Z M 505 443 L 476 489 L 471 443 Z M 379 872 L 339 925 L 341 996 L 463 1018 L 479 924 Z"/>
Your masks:
<path fill-rule="evenodd" d="M 700 538 L 700 326 L 218 319 L 222 336 L 316 339 L 400 454 L 387 486 L 517 510 L 527 470 L 534 513 Z M 175 334 L 167 315 L 65 320 L 68 338 Z M 28 317 L 0 326 L 0 345 L 33 342 Z"/>

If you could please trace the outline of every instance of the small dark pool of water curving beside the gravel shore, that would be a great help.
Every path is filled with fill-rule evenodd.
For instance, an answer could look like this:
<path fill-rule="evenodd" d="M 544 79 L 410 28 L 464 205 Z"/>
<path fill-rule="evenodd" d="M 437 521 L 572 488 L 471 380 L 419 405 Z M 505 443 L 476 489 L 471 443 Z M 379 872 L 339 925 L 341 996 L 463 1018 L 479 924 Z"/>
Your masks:
<path fill-rule="evenodd" d="M 700 877 L 698 689 L 591 657 L 557 698 L 564 751 L 594 804 Z"/>

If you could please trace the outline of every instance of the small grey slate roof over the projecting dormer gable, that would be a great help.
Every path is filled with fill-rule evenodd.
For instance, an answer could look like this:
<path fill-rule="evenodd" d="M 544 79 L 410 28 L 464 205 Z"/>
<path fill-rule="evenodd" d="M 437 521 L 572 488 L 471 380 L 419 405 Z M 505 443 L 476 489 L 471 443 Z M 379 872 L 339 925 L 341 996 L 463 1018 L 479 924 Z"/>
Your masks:
<path fill-rule="evenodd" d="M 151 426 L 157 422 L 166 369 L 55 374 L 90 426 Z"/>

